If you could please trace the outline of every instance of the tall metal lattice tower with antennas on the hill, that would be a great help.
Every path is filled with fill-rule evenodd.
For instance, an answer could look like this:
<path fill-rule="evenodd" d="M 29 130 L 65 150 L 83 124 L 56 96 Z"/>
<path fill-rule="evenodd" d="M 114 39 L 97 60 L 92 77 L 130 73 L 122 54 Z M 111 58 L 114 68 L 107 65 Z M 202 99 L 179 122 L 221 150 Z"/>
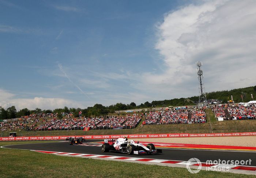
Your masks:
<path fill-rule="evenodd" d="M 199 81 L 199 102 L 198 106 L 203 107 L 207 105 L 207 100 L 206 100 L 206 94 L 205 94 L 205 89 L 204 89 L 204 84 L 202 82 L 204 76 L 203 76 L 203 71 L 201 70 L 201 66 L 203 65 L 202 62 L 196 62 L 197 65 L 197 78 Z"/>

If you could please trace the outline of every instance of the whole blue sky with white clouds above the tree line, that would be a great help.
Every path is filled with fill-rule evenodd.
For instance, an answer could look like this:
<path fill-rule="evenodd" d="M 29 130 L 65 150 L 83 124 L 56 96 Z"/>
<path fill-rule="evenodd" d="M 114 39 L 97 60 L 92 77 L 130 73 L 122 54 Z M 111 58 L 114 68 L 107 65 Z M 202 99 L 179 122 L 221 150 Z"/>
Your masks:
<path fill-rule="evenodd" d="M 241 58 L 255 62 L 253 47 L 238 53 L 255 42 L 255 2 L 239 3 L 0 0 L 0 105 L 54 109 L 195 96 L 198 60 L 206 64 L 208 92 L 254 86 L 248 75 L 213 72 L 245 69 Z M 238 5 L 244 8 L 235 13 Z M 227 34 L 241 29 L 248 33 L 236 45 Z"/>

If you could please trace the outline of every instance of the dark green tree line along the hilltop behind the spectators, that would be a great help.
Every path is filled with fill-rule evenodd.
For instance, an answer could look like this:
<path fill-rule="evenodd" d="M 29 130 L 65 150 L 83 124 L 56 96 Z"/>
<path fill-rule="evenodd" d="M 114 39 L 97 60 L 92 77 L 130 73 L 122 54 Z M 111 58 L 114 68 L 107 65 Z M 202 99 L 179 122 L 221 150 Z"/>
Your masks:
<path fill-rule="evenodd" d="M 254 87 L 246 87 L 246 88 L 238 88 L 230 91 L 216 91 L 206 93 L 207 99 L 219 99 L 223 103 L 226 103 L 231 99 L 231 95 L 233 96 L 233 100 L 235 102 L 242 102 L 242 97 L 244 102 L 251 101 L 251 94 L 256 97 L 256 86 Z M 242 96 L 242 97 L 241 97 Z M 16 110 L 15 106 L 8 107 L 6 110 L 0 106 L 0 119 L 11 119 L 11 118 L 19 118 L 22 116 L 30 115 L 30 114 L 39 114 L 39 113 L 58 113 L 58 117 L 62 118 L 61 113 L 73 113 L 75 117 L 79 116 L 79 112 L 82 111 L 82 116 L 90 117 L 90 116 L 106 116 L 109 113 L 114 113 L 117 110 L 129 110 L 129 109 L 141 109 L 145 107 L 167 107 L 167 106 L 185 106 L 185 105 L 195 105 L 198 102 L 198 96 L 193 96 L 190 98 L 174 98 L 163 101 L 152 101 L 151 103 L 146 101 L 144 104 L 136 105 L 135 102 L 131 102 L 130 104 L 116 103 L 115 105 L 103 106 L 101 104 L 95 104 L 93 107 L 87 107 L 87 109 L 81 108 L 68 108 L 65 106 L 64 108 L 57 108 L 54 110 L 42 110 L 36 108 L 35 110 L 29 110 L 27 108 L 21 109 L 19 111 Z"/>

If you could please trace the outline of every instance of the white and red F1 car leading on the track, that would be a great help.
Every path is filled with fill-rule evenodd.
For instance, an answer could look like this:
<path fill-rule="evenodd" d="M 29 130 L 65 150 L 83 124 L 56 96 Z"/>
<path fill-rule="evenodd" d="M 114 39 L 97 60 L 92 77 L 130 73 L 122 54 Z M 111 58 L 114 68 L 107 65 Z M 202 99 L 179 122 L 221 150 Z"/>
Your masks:
<path fill-rule="evenodd" d="M 127 138 L 105 139 L 104 144 L 101 146 L 101 151 L 116 151 L 121 153 L 127 153 L 129 155 L 162 153 L 162 149 L 155 149 L 155 146 L 152 143 L 149 143 L 147 144 L 147 146 L 144 146 L 139 142 L 135 143 L 133 140 L 128 140 Z"/>

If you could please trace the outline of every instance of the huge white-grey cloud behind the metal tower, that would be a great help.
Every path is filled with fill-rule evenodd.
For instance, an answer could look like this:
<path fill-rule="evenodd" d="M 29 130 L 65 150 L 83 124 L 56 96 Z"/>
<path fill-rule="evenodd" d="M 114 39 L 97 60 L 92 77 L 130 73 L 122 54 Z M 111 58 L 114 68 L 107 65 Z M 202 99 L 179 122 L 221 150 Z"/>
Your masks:
<path fill-rule="evenodd" d="M 203 61 L 206 91 L 254 86 L 256 1 L 215 0 L 165 15 L 155 49 L 164 73 L 144 73 L 139 89 L 166 98 L 198 94 L 196 61 Z"/>

